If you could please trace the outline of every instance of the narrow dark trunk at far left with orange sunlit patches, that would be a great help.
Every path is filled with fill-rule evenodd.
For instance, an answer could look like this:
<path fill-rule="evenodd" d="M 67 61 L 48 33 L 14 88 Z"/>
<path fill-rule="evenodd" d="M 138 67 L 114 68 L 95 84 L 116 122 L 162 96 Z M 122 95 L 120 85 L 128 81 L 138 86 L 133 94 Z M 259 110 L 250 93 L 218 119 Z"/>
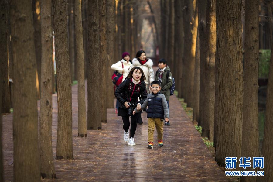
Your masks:
<path fill-rule="evenodd" d="M 42 42 L 41 42 L 41 22 L 40 22 L 40 0 L 32 0 L 33 26 L 34 26 L 34 43 L 37 62 L 36 72 L 36 89 L 38 99 L 40 99 L 40 83 L 41 83 L 41 57 L 42 57 Z"/>

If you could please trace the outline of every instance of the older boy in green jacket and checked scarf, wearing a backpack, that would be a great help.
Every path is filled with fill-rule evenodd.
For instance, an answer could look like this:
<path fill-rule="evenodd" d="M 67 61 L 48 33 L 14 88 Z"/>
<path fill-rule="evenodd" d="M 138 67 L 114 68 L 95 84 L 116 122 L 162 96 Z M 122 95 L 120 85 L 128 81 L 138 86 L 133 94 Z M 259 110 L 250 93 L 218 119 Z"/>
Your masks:
<path fill-rule="evenodd" d="M 155 73 L 155 80 L 160 81 L 161 84 L 160 92 L 165 95 L 169 107 L 170 88 L 172 87 L 173 82 L 170 67 L 167 65 L 167 61 L 164 58 L 158 61 L 158 70 Z M 165 121 L 165 125 L 169 126 L 171 124 L 169 121 L 168 122 Z"/>

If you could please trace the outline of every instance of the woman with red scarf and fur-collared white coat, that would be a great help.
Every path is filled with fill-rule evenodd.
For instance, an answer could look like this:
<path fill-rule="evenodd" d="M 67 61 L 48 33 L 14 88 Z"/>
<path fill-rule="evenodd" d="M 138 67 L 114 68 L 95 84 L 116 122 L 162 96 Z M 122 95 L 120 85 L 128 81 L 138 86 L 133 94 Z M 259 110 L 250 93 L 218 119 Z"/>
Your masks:
<path fill-rule="evenodd" d="M 146 78 L 145 79 L 146 90 L 148 93 L 150 93 L 149 86 L 155 80 L 155 73 L 152 68 L 153 61 L 146 57 L 146 53 L 144 50 L 139 50 L 136 53 L 135 58 L 132 60 L 131 67 L 134 67 L 134 66 L 140 67 L 143 70 L 143 73 Z M 144 111 L 146 111 L 146 110 L 144 109 Z M 138 117 L 140 117 L 138 119 L 138 124 L 142 124 L 143 122 L 142 122 L 140 113 L 139 113 Z"/>

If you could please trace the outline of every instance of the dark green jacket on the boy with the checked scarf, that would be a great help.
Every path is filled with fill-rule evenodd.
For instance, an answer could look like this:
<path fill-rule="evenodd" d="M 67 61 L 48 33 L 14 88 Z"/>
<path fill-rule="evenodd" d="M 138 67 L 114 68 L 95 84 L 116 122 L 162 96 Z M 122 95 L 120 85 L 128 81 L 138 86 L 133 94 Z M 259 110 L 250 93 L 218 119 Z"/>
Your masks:
<path fill-rule="evenodd" d="M 172 86 L 172 73 L 169 72 L 169 77 L 167 78 L 167 71 L 170 71 L 169 66 L 166 67 L 166 70 L 163 73 L 160 92 L 165 95 L 166 101 L 169 101 L 170 87 Z M 155 80 L 158 80 L 158 75 L 159 73 L 155 75 Z"/>

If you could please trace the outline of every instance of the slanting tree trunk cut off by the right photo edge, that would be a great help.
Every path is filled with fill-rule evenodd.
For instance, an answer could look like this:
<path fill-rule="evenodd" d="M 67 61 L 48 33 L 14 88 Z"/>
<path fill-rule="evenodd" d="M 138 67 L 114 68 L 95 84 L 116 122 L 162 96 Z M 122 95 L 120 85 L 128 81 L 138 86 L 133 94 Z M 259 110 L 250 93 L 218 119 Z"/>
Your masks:
<path fill-rule="evenodd" d="M 273 45 L 271 45 L 273 47 Z M 271 60 L 268 75 L 267 97 L 266 97 L 266 111 L 265 111 L 265 124 L 264 124 L 264 140 L 261 154 L 264 157 L 264 176 L 260 181 L 273 180 L 273 49 L 271 49 Z"/>

